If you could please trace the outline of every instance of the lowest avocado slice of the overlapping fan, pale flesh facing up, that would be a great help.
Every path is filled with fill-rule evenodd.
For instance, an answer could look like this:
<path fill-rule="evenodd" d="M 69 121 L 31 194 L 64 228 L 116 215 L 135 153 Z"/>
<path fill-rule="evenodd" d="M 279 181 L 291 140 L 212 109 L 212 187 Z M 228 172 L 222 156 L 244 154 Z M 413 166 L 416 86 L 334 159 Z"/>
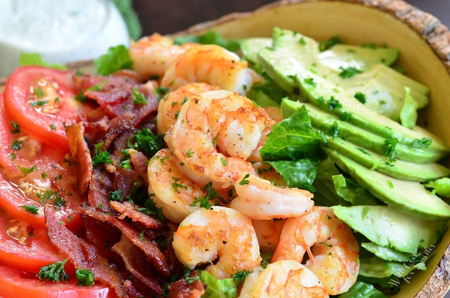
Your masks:
<path fill-rule="evenodd" d="M 324 150 L 343 171 L 386 204 L 423 219 L 450 217 L 450 205 L 426 190 L 422 184 L 390 177 L 379 171 L 371 170 L 335 150 L 327 148 Z M 370 240 L 377 243 L 373 239 Z"/>

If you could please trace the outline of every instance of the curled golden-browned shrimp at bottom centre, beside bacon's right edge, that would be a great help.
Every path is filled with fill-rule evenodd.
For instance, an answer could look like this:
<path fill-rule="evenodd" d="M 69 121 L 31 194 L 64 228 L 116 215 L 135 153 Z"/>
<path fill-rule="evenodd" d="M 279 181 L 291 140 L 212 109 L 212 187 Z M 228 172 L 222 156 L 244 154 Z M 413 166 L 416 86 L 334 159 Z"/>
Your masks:
<path fill-rule="evenodd" d="M 182 264 L 193 269 L 209 263 L 206 270 L 219 279 L 261 262 L 250 219 L 227 207 L 199 208 L 189 214 L 173 234 L 172 245 Z"/>

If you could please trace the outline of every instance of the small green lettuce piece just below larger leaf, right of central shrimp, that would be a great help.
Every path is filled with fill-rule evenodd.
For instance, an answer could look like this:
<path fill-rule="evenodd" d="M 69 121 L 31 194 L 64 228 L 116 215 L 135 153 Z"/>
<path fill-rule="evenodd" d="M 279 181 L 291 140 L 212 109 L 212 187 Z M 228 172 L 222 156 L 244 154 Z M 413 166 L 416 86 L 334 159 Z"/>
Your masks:
<path fill-rule="evenodd" d="M 295 161 L 268 161 L 281 175 L 289 187 L 296 187 L 314 192 L 312 181 L 315 179 L 319 161 L 313 158 L 302 158 Z"/>

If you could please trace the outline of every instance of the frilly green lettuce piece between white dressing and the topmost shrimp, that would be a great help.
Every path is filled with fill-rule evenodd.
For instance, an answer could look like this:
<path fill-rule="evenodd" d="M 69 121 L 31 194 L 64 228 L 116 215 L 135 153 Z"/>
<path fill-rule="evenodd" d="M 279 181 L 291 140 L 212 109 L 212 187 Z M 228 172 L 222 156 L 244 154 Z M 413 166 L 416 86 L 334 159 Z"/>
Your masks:
<path fill-rule="evenodd" d="M 131 58 L 124 45 L 111 46 L 108 51 L 94 60 L 98 74 L 108 75 L 120 69 L 131 69 Z"/>

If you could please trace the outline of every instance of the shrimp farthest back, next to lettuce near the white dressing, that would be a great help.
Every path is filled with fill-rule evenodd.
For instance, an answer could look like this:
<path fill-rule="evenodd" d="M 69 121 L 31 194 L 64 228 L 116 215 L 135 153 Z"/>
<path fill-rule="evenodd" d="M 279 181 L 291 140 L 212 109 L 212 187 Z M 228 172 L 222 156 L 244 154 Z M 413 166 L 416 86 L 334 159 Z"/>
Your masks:
<path fill-rule="evenodd" d="M 171 37 L 153 33 L 131 42 L 128 52 L 133 69 L 140 75 L 162 77 L 167 67 L 190 46 L 192 43 L 173 44 Z"/>

